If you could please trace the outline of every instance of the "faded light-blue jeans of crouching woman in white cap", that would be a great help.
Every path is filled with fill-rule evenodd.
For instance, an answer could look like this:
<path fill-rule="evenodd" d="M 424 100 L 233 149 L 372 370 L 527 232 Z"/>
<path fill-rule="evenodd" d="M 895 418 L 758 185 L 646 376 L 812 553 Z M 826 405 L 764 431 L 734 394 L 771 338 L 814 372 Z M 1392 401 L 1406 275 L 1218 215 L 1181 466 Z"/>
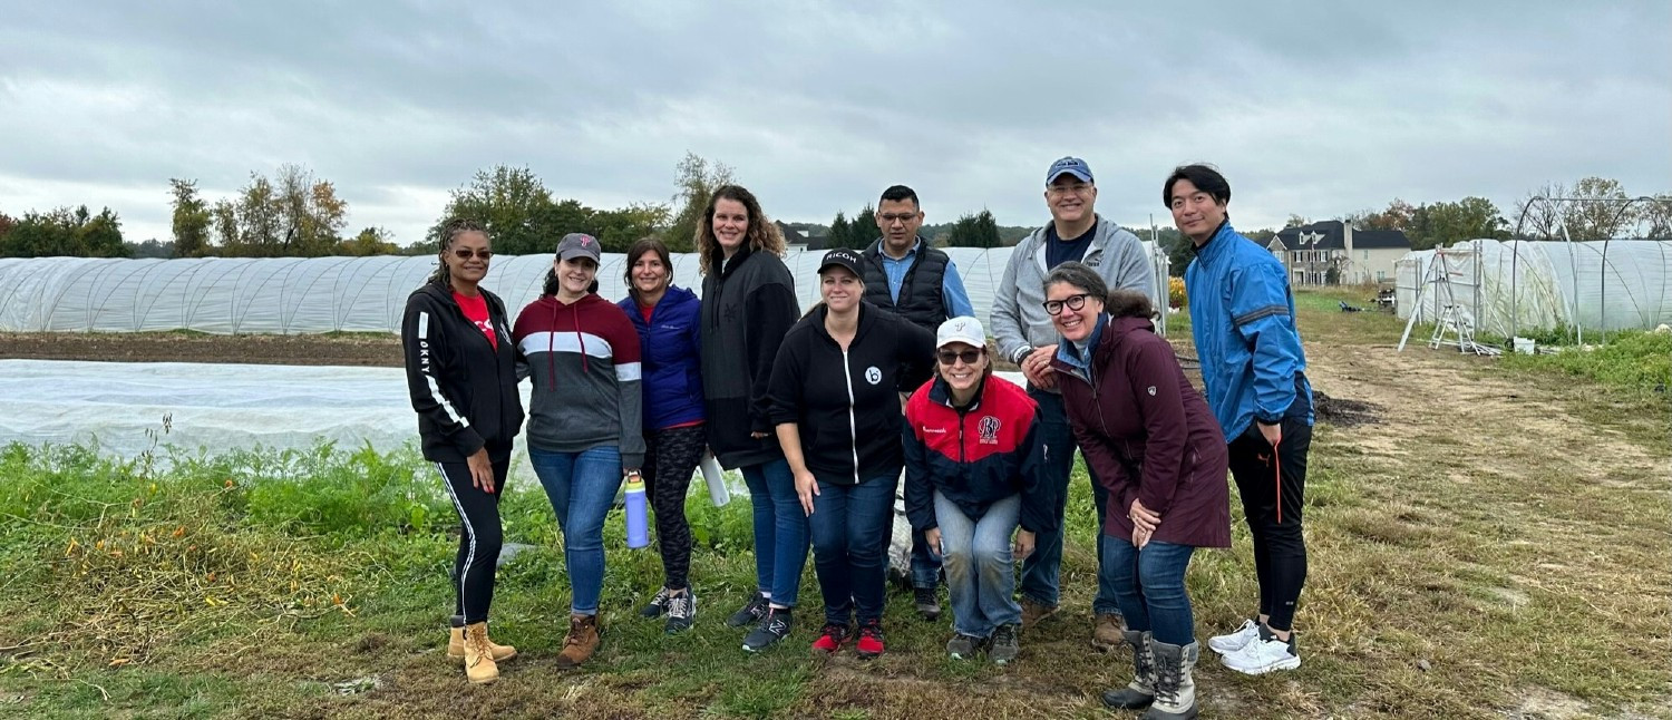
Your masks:
<path fill-rule="evenodd" d="M 981 520 L 970 520 L 935 491 L 935 523 L 946 553 L 946 595 L 951 596 L 955 633 L 985 638 L 1000 625 L 1022 621 L 1022 606 L 1012 598 L 1015 565 L 1010 558 L 1010 536 L 1020 516 L 1020 494 L 993 503 Z"/>

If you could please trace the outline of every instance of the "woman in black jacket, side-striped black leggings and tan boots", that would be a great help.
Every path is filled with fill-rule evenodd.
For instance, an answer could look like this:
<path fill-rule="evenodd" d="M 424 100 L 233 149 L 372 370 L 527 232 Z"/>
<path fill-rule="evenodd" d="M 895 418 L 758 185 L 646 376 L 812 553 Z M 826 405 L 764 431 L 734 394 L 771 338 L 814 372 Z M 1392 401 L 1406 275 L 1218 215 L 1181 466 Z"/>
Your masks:
<path fill-rule="evenodd" d="M 401 319 L 406 389 L 418 413 L 423 456 L 441 473 L 460 518 L 446 653 L 465 662 L 472 683 L 497 680 L 497 663 L 517 657 L 517 648 L 488 640 L 487 626 L 503 538 L 500 493 L 512 438 L 523 421 L 505 302 L 478 286 L 492 256 L 480 224 L 448 221 L 441 227 L 441 264 L 406 297 Z"/>

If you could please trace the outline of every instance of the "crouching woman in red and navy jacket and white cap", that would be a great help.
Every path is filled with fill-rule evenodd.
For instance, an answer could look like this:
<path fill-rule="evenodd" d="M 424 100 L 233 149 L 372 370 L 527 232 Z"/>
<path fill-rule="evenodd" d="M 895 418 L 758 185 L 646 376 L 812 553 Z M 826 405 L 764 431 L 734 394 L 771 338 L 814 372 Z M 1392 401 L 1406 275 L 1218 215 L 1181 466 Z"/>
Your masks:
<path fill-rule="evenodd" d="M 975 317 L 941 322 L 935 344 L 935 379 L 906 401 L 906 516 L 946 563 L 946 653 L 963 660 L 986 646 L 1003 665 L 1020 650 L 1022 625 L 1010 536 L 1015 556 L 1027 558 L 1035 533 L 1057 530 L 1038 404 L 1015 383 L 991 379 Z"/>

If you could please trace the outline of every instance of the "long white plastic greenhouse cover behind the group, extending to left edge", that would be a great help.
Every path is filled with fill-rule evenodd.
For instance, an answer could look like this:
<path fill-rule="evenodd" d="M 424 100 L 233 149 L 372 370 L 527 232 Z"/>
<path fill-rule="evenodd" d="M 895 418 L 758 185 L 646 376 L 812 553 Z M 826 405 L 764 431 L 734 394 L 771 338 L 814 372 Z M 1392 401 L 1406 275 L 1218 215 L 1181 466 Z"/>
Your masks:
<path fill-rule="evenodd" d="M 1167 252 L 1144 242 L 1165 307 Z M 976 317 L 988 317 L 1010 247 L 948 247 Z M 803 307 L 818 301 L 823 251 L 791 251 Z M 625 256 L 604 254 L 599 294 L 627 296 Z M 674 284 L 701 294 L 696 254 L 675 254 Z M 552 256 L 500 256 L 483 287 L 515 314 L 532 302 Z M 202 259 L 0 259 L 0 331 L 139 332 L 192 329 L 212 334 L 400 332 L 406 296 L 435 269 L 435 256 L 405 257 L 202 257 Z"/>

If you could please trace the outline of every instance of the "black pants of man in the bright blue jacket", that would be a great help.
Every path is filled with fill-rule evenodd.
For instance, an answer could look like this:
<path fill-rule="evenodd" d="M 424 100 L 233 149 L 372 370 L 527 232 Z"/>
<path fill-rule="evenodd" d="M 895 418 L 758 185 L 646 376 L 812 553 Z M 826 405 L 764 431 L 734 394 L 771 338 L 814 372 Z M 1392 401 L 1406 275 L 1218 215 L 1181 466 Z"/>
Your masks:
<path fill-rule="evenodd" d="M 1306 585 L 1301 505 L 1306 501 L 1306 453 L 1311 446 L 1313 426 L 1299 418 L 1282 421 L 1277 468 L 1272 468 L 1271 443 L 1259 434 L 1257 424 L 1231 441 L 1231 476 L 1237 481 L 1242 515 L 1254 538 L 1259 613 L 1271 616 L 1266 625 L 1272 630 L 1294 626 L 1294 605 Z"/>

